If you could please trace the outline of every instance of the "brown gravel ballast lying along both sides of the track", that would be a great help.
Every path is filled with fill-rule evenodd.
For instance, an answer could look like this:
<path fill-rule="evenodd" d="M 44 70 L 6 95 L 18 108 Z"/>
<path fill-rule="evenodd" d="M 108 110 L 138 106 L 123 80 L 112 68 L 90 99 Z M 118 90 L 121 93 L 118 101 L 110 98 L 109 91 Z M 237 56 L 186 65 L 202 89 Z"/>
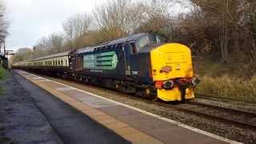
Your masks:
<path fill-rule="evenodd" d="M 224 138 L 230 138 L 231 140 L 238 141 L 238 142 L 244 142 L 244 143 L 256 143 L 256 131 L 254 130 L 246 130 L 242 129 L 238 126 L 232 126 L 230 124 L 222 123 L 222 122 L 215 122 L 213 120 L 210 120 L 208 118 L 199 118 L 198 116 L 195 116 L 193 114 L 186 114 L 179 112 L 177 110 L 174 110 L 168 106 L 161 106 L 159 102 L 151 102 L 149 99 L 145 98 L 138 98 L 137 96 L 130 95 L 130 94 L 121 94 L 119 92 L 116 92 L 114 90 L 107 90 L 104 88 L 96 87 L 96 86 L 87 86 L 78 84 L 75 82 L 70 82 L 58 78 L 50 78 L 58 82 L 62 82 L 69 86 L 74 86 L 80 90 L 86 90 L 93 94 L 98 94 L 105 98 L 110 98 L 117 102 L 122 102 L 130 106 L 137 107 L 142 110 L 146 110 L 153 114 L 158 114 L 165 118 L 170 118 L 172 120 L 185 123 L 189 126 L 194 126 L 200 130 L 205 130 L 207 132 L 217 134 L 219 136 L 222 136 Z M 256 109 L 256 106 L 253 104 L 246 104 L 241 102 L 220 102 L 215 100 L 207 100 L 202 98 L 195 98 L 195 101 L 204 101 L 209 102 L 211 104 L 215 105 L 221 105 L 221 106 L 227 106 L 235 109 L 242 109 L 242 110 L 249 110 L 254 111 Z M 177 102 L 170 102 L 169 105 L 178 105 Z"/>

